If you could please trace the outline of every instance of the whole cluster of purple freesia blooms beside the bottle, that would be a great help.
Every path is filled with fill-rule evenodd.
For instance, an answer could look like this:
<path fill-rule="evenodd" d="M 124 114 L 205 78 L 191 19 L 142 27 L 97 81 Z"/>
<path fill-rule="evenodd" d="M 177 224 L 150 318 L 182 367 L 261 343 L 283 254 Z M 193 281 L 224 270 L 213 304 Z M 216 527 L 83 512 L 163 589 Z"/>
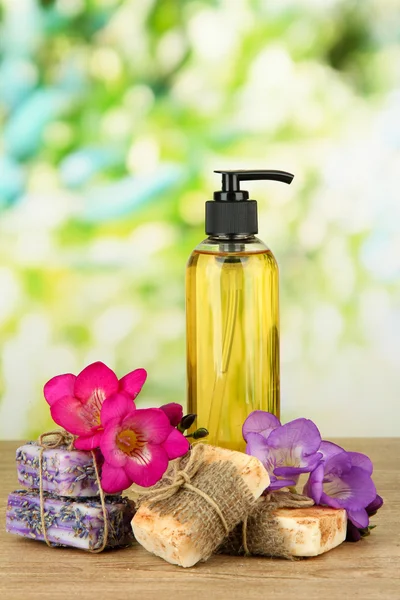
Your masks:
<path fill-rule="evenodd" d="M 262 410 L 248 416 L 243 437 L 247 454 L 261 460 L 268 471 L 269 490 L 295 486 L 302 473 L 310 473 L 303 494 L 315 504 L 346 510 L 347 539 L 357 541 L 368 535 L 369 517 L 383 504 L 371 479 L 368 456 L 322 441 L 308 419 L 281 425 L 277 417 Z"/>

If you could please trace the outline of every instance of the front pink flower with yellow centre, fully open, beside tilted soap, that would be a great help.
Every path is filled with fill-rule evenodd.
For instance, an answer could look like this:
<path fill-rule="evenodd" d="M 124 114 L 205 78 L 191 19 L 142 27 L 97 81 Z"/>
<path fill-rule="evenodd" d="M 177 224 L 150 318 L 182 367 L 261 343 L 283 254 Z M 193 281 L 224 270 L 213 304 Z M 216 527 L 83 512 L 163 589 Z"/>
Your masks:
<path fill-rule="evenodd" d="M 136 483 L 154 485 L 164 475 L 168 461 L 183 456 L 189 442 L 174 429 L 159 408 L 135 409 L 125 394 L 108 398 L 101 409 L 104 456 L 101 485 L 117 493 Z"/>

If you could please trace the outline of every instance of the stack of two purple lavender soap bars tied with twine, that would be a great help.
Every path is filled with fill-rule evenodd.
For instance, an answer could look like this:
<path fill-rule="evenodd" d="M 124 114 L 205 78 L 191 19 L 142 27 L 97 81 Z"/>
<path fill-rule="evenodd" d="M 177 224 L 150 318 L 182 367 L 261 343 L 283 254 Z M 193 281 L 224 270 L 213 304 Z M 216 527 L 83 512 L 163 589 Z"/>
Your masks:
<path fill-rule="evenodd" d="M 43 452 L 41 465 L 40 452 Z M 95 454 L 95 458 L 100 471 L 101 456 Z M 102 548 L 105 523 L 92 453 L 69 450 L 66 446 L 43 450 L 30 442 L 18 448 L 16 460 L 18 480 L 29 489 L 9 495 L 7 531 L 35 540 L 44 540 L 46 533 L 48 541 L 57 546 Z M 108 522 L 105 547 L 130 544 L 134 539 L 130 526 L 135 513 L 133 502 L 121 496 L 105 496 L 105 503 Z"/>

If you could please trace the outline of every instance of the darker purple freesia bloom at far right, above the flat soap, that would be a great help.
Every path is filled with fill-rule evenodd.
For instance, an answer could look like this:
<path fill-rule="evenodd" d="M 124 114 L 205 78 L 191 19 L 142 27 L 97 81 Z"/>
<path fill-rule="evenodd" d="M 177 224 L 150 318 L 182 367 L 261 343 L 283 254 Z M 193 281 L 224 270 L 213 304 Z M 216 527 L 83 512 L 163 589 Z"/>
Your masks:
<path fill-rule="evenodd" d="M 332 442 L 321 442 L 323 461 L 311 473 L 303 493 L 316 504 L 345 508 L 357 527 L 368 527 L 368 507 L 376 500 L 372 463 L 359 452 L 346 452 Z"/>

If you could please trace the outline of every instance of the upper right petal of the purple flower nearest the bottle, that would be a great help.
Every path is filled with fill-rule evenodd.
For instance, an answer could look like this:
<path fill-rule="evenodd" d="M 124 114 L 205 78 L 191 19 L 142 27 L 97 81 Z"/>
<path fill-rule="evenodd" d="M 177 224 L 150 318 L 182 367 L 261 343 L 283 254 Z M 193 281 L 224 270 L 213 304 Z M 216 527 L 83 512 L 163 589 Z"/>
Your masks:
<path fill-rule="evenodd" d="M 268 437 L 268 445 L 286 448 L 294 458 L 300 458 L 318 451 L 321 435 L 318 427 L 309 419 L 295 419 L 274 429 Z"/>

